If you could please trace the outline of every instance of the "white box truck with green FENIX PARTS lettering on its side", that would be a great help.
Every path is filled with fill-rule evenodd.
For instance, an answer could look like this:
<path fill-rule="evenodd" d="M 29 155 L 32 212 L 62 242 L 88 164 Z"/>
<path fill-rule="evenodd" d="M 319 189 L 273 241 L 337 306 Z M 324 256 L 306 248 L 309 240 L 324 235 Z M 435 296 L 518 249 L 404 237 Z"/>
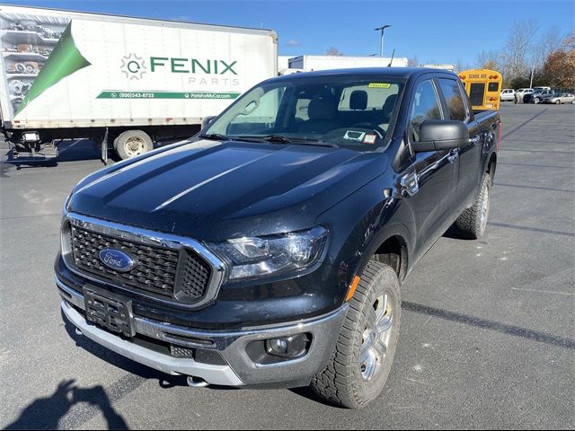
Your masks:
<path fill-rule="evenodd" d="M 108 143 L 121 158 L 191 136 L 278 75 L 270 30 L 0 5 L 2 132 L 13 156 L 57 140 Z"/>

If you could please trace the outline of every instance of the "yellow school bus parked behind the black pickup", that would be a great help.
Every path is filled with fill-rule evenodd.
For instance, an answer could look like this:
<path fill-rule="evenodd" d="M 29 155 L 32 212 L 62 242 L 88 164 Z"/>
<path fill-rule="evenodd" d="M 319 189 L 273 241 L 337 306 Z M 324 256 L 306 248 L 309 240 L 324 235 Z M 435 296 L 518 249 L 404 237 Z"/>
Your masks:
<path fill-rule="evenodd" d="M 459 72 L 473 110 L 499 110 L 501 74 L 495 70 L 474 69 Z"/>

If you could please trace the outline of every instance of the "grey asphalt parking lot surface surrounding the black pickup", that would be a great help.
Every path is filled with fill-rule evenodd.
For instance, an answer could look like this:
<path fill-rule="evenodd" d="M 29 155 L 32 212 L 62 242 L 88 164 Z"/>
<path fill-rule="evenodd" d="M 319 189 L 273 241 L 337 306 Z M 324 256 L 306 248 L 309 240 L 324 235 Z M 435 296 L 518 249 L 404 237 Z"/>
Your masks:
<path fill-rule="evenodd" d="M 100 167 L 0 167 L 0 427 L 575 427 L 575 106 L 501 108 L 487 233 L 444 235 L 402 286 L 394 366 L 352 411 L 308 389 L 192 389 L 75 335 L 52 278 L 61 206 Z M 3 153 L 5 151 L 3 150 Z"/>

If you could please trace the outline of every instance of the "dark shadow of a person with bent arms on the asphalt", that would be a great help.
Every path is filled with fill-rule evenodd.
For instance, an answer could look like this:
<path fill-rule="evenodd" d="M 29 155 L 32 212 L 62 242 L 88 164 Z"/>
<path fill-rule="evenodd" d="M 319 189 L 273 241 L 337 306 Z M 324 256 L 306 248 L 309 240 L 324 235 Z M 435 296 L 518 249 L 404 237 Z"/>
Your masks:
<path fill-rule="evenodd" d="M 100 409 L 108 429 L 128 429 L 124 418 L 111 406 L 110 398 L 102 386 L 79 388 L 74 380 L 63 381 L 49 397 L 32 401 L 22 410 L 20 418 L 4 429 L 57 429 L 60 419 L 81 402 Z"/>

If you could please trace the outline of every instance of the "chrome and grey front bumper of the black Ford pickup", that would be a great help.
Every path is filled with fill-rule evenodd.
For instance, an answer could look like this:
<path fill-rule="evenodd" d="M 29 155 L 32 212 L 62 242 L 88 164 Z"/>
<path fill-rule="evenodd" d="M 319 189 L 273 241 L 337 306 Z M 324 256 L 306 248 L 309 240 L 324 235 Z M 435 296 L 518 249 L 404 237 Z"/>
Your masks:
<path fill-rule="evenodd" d="M 85 307 L 84 295 L 66 286 L 58 277 L 56 283 L 62 297 L 61 308 L 67 320 L 88 339 L 164 373 L 199 377 L 207 383 L 226 386 L 309 382 L 330 359 L 348 309 L 348 305 L 344 304 L 335 312 L 314 319 L 230 332 L 190 330 L 144 316 L 134 316 L 137 335 L 182 347 L 214 350 L 224 359 L 222 364 L 207 364 L 192 358 L 160 353 L 94 326 L 82 314 Z M 248 353 L 253 343 L 297 333 L 312 336 L 311 345 L 303 357 L 264 364 L 254 360 Z"/>

